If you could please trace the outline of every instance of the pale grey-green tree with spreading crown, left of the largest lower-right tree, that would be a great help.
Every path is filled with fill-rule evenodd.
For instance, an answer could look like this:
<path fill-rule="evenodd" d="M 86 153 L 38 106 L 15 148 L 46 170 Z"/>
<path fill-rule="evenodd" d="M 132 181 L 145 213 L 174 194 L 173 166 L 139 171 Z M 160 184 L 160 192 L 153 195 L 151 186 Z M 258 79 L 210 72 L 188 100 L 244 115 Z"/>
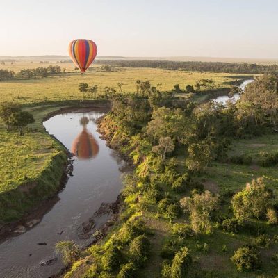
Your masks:
<path fill-rule="evenodd" d="M 211 195 L 206 190 L 202 194 L 193 194 L 192 197 L 184 197 L 180 200 L 181 207 L 189 213 L 190 222 L 195 233 L 210 233 L 211 213 L 218 208 L 218 197 Z"/>

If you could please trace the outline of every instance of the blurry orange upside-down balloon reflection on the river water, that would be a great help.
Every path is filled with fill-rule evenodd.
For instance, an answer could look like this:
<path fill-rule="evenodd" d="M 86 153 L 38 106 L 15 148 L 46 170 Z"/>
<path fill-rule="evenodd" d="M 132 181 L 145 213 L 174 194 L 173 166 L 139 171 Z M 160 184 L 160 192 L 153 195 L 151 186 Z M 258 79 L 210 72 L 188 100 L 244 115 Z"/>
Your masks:
<path fill-rule="evenodd" d="M 86 129 L 86 124 L 89 122 L 88 118 L 83 117 L 80 122 L 83 125 L 83 131 L 74 139 L 71 151 L 79 159 L 94 158 L 99 153 L 99 145 L 92 134 Z"/>

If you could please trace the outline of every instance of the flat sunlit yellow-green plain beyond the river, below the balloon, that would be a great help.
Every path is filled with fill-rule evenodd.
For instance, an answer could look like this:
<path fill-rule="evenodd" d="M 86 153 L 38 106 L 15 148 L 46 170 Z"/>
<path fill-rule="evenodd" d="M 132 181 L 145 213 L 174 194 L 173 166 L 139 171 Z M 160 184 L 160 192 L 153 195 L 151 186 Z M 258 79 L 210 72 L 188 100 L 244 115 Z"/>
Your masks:
<path fill-rule="evenodd" d="M 68 99 L 82 99 L 78 90 L 81 82 L 89 85 L 98 85 L 99 94 L 104 92 L 105 87 L 115 88 L 120 92 L 117 83 L 121 82 L 123 92 L 136 92 L 136 80 L 149 80 L 152 85 L 158 85 L 162 91 L 172 90 L 175 84 L 181 89 L 186 85 L 195 85 L 199 79 L 213 79 L 215 88 L 229 88 L 229 83 L 237 79 L 243 79 L 244 74 L 225 74 L 215 72 L 183 72 L 152 68 L 116 68 L 115 72 L 104 72 L 100 70 L 101 65 L 90 67 L 86 74 L 80 74 L 74 70 L 72 63 L 31 63 L 19 61 L 0 65 L 0 69 L 19 70 L 34 67 L 47 67 L 49 65 L 60 65 L 65 73 L 31 80 L 13 80 L 0 82 L 1 101 L 15 101 L 19 104 L 30 104 L 44 101 L 64 101 Z M 247 75 L 247 79 L 250 75 Z"/>

